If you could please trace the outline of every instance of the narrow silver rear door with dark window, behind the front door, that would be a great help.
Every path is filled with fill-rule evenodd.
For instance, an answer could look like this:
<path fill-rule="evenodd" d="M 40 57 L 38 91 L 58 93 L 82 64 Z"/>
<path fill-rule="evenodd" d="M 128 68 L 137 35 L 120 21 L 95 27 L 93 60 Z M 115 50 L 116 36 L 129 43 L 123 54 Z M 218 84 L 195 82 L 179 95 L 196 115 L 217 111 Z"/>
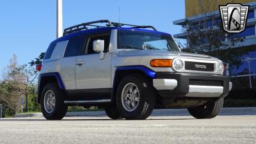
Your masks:
<path fill-rule="evenodd" d="M 76 58 L 83 55 L 86 36 L 74 36 L 68 41 L 61 60 L 61 78 L 66 90 L 76 90 Z"/>

